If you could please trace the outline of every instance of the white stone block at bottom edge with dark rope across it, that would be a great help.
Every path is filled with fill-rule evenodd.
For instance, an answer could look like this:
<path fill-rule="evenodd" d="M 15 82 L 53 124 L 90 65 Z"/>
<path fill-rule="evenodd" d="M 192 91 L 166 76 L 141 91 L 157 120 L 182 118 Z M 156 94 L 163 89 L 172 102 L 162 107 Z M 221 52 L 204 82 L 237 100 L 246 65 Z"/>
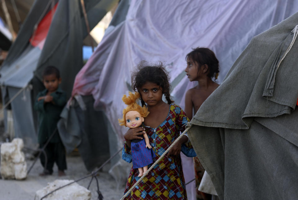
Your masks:
<path fill-rule="evenodd" d="M 73 182 L 73 180 L 55 180 L 54 182 L 48 183 L 46 187 L 36 191 L 34 200 L 39 200 L 44 197 L 46 194 L 50 193 L 51 191 L 69 184 Z M 64 188 L 61 188 L 52 194 L 48 195 L 43 200 L 90 200 L 91 199 L 91 192 L 80 186 L 77 183 L 70 184 Z"/>

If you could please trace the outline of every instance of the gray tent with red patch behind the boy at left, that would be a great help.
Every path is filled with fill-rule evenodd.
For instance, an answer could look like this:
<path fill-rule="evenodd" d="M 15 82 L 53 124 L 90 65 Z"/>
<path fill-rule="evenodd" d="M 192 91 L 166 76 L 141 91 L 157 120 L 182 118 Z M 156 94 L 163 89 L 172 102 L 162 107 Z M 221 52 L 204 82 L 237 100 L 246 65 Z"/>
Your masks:
<path fill-rule="evenodd" d="M 85 1 L 90 29 L 116 3 Z M 31 7 L 0 69 L 3 102 L 13 99 L 10 105 L 15 136 L 23 138 L 26 146 L 37 143 L 38 122 L 33 103 L 43 89 L 43 69 L 53 65 L 60 70 L 61 89 L 70 97 L 75 75 L 83 66 L 83 39 L 87 35 L 79 0 L 36 0 Z M 5 123 L 6 120 L 5 117 Z"/>

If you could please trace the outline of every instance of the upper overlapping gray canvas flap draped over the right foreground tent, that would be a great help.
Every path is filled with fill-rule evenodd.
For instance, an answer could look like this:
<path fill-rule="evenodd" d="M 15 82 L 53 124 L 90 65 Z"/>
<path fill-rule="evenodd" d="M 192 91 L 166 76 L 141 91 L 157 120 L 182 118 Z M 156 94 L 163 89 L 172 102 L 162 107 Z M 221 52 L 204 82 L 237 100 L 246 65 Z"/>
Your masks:
<path fill-rule="evenodd" d="M 295 49 L 288 53 L 277 68 L 293 38 L 291 31 L 297 23 L 294 20 L 295 16 L 296 14 L 251 40 L 229 70 L 224 84 L 221 84 L 200 108 L 200 113 L 204 113 L 204 115 L 196 115 L 192 120 L 193 124 L 247 129 L 252 120 L 250 117 L 276 117 L 285 113 L 289 114 L 295 108 L 295 101 L 298 97 L 298 91 L 295 90 L 296 84 L 292 84 L 292 82 L 280 83 L 288 79 L 286 75 L 290 73 L 289 70 L 293 70 L 291 76 L 295 74 L 295 59 L 293 59 L 296 53 Z M 289 24 L 289 22 L 291 23 Z M 285 65 L 289 65 L 288 68 L 283 67 Z M 276 72 L 276 77 L 269 79 Z M 278 75 L 281 78 L 278 79 Z M 275 81 L 275 95 L 270 97 L 265 93 L 268 91 L 266 85 L 273 81 Z M 284 95 L 285 89 L 289 89 L 293 93 Z M 271 90 L 273 92 L 273 88 Z M 212 109 L 204 106 L 212 101 L 211 99 L 218 100 L 217 106 Z M 222 101 L 222 99 L 228 99 L 230 103 L 227 104 L 226 100 Z M 237 109 L 230 109 L 231 105 L 237 105 Z M 221 115 L 214 116 L 214 113 L 221 113 Z"/>

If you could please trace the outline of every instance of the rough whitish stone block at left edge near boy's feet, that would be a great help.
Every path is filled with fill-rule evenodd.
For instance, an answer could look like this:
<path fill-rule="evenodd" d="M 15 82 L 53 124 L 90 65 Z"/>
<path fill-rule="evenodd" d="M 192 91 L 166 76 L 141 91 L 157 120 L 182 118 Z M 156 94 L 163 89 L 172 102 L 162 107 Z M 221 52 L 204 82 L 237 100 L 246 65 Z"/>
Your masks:
<path fill-rule="evenodd" d="M 10 142 L 1 144 L 0 174 L 3 179 L 22 180 L 27 176 L 27 164 L 24 153 L 21 151 L 24 142 L 15 138 Z"/>

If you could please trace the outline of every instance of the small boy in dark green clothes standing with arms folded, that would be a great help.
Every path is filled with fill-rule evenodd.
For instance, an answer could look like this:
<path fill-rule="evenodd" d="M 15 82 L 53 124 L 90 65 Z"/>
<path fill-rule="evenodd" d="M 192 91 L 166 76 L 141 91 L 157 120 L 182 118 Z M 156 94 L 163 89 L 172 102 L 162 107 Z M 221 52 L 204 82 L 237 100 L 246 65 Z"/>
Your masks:
<path fill-rule="evenodd" d="M 66 93 L 59 88 L 60 83 L 59 70 L 54 66 L 47 66 L 43 71 L 43 84 L 46 89 L 38 93 L 34 104 L 39 118 L 39 148 L 43 148 L 54 131 L 55 133 L 44 149 L 47 155 L 47 166 L 45 166 L 44 154 L 40 155 L 41 164 L 45 168 L 43 173 L 39 174 L 41 176 L 53 173 L 54 162 L 58 166 L 59 176 L 65 175 L 64 170 L 67 168 L 65 148 L 56 129 L 60 113 L 66 104 Z"/>

